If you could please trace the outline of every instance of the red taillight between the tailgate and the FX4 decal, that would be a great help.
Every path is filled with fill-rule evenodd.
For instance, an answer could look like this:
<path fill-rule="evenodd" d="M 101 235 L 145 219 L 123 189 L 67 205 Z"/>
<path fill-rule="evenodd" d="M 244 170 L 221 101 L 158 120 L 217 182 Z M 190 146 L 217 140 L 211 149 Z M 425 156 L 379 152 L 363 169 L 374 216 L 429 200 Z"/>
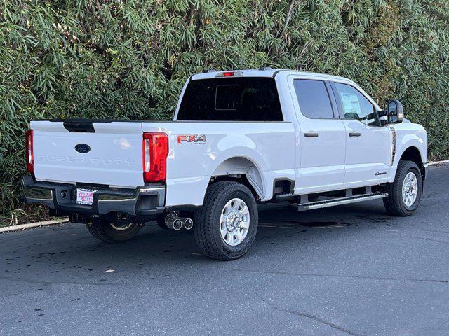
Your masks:
<path fill-rule="evenodd" d="M 168 137 L 165 133 L 143 134 L 143 181 L 161 182 L 167 177 Z"/>

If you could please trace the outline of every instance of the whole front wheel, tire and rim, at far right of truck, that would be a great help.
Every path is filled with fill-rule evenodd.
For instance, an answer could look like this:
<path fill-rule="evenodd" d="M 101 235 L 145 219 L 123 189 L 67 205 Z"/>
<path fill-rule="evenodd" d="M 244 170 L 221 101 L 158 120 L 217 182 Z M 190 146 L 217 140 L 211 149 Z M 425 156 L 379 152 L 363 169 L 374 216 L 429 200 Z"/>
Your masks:
<path fill-rule="evenodd" d="M 394 216 L 410 216 L 420 204 L 422 176 L 413 161 L 399 161 L 393 183 L 387 186 L 388 197 L 384 198 L 387 212 Z"/>

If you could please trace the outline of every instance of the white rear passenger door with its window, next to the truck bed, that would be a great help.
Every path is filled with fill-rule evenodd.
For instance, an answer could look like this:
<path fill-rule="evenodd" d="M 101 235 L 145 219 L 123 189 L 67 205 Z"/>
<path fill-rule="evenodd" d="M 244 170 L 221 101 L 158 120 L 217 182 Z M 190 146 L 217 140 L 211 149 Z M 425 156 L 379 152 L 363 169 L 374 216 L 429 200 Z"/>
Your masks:
<path fill-rule="evenodd" d="M 290 92 L 300 125 L 300 167 L 295 194 L 341 189 L 346 130 L 325 80 L 290 76 Z"/>

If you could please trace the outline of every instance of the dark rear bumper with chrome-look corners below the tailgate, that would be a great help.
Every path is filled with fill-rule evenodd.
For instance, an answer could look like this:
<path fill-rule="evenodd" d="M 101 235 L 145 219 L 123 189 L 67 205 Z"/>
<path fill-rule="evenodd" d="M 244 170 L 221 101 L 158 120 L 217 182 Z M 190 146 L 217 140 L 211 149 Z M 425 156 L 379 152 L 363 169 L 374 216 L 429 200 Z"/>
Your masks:
<path fill-rule="evenodd" d="M 83 186 L 83 188 L 87 188 Z M 39 182 L 32 176 L 22 179 L 23 198 L 27 203 L 45 204 L 60 215 L 127 214 L 154 217 L 164 210 L 166 187 L 154 183 L 135 189 L 90 187 L 95 191 L 92 205 L 76 204 L 76 186 L 65 183 Z"/>

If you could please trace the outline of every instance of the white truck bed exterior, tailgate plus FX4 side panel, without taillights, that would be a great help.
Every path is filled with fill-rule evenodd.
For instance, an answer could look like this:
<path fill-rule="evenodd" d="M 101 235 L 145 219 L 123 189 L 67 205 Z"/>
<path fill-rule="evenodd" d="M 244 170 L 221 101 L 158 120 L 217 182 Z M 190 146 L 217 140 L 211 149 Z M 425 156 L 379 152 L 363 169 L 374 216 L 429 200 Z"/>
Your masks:
<path fill-rule="evenodd" d="M 36 181 L 120 188 L 145 185 L 143 132 L 168 134 L 166 206 L 186 200 L 188 205 L 201 205 L 211 176 L 226 169 L 220 164 L 229 158 L 253 165 L 262 200 L 272 197 L 273 186 L 267 181 L 295 177 L 295 132 L 288 122 L 36 120 L 31 128 Z M 80 144 L 89 151 L 77 151 Z"/>

